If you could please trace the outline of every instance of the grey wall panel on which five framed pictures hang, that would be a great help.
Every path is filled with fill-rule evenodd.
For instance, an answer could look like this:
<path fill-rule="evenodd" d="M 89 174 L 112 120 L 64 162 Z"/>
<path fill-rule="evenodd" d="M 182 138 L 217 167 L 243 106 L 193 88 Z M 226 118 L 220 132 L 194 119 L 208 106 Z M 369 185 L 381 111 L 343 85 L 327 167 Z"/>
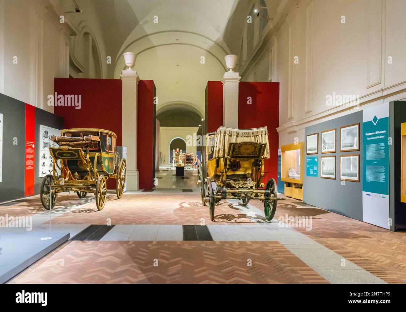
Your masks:
<path fill-rule="evenodd" d="M 306 167 L 304 168 L 303 177 L 303 201 L 313 206 L 317 206 L 337 214 L 342 214 L 350 218 L 362 221 L 362 163 L 363 151 L 356 152 L 340 152 L 340 127 L 350 124 L 360 123 L 360 142 L 359 146 L 362 147 L 362 116 L 361 110 L 348 114 L 343 117 L 335 118 L 327 122 L 322 122 L 314 126 L 305 128 L 305 148 L 306 153 L 306 135 L 312 133 L 319 133 L 319 153 L 316 155 L 304 155 L 304 166 L 306 166 L 307 157 L 318 157 L 319 168 L 317 177 L 307 177 Z M 336 128 L 336 152 L 322 154 L 321 153 L 321 132 Z M 360 155 L 360 181 L 349 182 L 346 185 L 341 185 L 340 181 L 340 155 Z M 320 156 L 336 156 L 336 180 L 322 179 L 320 177 Z"/>

